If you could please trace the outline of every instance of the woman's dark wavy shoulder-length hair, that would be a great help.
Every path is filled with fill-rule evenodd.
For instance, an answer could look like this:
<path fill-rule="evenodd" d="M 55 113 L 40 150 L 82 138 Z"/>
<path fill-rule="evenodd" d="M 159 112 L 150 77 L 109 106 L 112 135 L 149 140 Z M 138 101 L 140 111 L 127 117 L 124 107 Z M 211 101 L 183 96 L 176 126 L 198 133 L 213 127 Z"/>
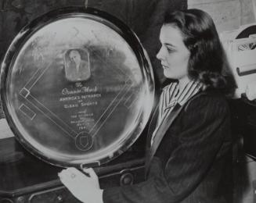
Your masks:
<path fill-rule="evenodd" d="M 189 78 L 230 94 L 236 85 L 211 16 L 200 9 L 175 11 L 164 17 L 168 24 L 178 27 L 189 49 Z"/>

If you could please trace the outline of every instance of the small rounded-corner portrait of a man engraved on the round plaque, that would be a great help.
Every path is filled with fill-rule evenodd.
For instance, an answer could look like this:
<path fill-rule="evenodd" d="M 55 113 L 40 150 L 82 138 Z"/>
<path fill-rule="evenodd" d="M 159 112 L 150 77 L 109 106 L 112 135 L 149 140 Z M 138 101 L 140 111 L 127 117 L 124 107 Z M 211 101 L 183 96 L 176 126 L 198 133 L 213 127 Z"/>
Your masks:
<path fill-rule="evenodd" d="M 70 81 L 88 80 L 91 77 L 89 52 L 69 49 L 65 55 L 65 76 Z"/>

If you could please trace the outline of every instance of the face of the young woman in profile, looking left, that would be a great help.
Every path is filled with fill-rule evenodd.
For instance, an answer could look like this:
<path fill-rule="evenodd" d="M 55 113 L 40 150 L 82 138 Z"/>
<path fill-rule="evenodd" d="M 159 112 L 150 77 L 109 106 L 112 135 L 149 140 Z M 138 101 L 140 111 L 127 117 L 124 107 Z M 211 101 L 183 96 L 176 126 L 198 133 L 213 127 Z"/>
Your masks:
<path fill-rule="evenodd" d="M 184 45 L 182 33 L 178 27 L 171 24 L 164 25 L 160 30 L 161 48 L 157 53 L 164 76 L 182 80 L 188 77 L 189 49 Z"/>

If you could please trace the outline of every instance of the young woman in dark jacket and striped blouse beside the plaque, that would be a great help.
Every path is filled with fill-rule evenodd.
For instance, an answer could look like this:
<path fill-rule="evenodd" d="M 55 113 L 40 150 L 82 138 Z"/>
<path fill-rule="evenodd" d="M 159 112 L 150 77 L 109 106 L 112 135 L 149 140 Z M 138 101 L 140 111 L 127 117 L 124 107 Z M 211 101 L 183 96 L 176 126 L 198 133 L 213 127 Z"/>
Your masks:
<path fill-rule="evenodd" d="M 157 54 L 164 87 L 150 125 L 145 182 L 99 189 L 96 173 L 59 173 L 83 202 L 232 202 L 232 151 L 225 53 L 206 12 L 167 13 Z"/>

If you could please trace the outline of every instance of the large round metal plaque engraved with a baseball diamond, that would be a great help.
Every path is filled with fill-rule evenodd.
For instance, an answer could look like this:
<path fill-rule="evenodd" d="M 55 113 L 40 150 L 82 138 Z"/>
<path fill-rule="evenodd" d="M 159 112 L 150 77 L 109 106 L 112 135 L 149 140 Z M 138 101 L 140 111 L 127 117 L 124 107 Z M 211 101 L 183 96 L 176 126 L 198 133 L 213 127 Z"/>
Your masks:
<path fill-rule="evenodd" d="M 96 9 L 32 21 L 2 62 L 1 98 L 18 141 L 56 166 L 100 165 L 139 137 L 153 72 L 135 34 Z"/>

